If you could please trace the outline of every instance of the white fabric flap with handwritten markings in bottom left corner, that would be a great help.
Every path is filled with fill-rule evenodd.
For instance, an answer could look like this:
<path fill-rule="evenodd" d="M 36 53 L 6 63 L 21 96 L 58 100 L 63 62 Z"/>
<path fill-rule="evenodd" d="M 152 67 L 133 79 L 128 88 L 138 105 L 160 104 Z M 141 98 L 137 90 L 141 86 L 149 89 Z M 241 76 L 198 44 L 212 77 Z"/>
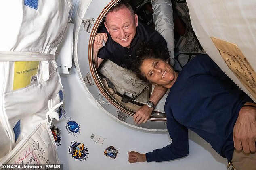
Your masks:
<path fill-rule="evenodd" d="M 23 169 L 26 165 L 59 164 L 56 144 L 50 130 L 50 124 L 44 120 L 31 128 L 30 133 L 4 157 L 0 164 L 15 164 Z M 44 165 L 46 166 L 46 165 Z M 26 169 L 26 168 L 25 168 Z M 50 169 L 40 167 L 35 169 Z"/>

